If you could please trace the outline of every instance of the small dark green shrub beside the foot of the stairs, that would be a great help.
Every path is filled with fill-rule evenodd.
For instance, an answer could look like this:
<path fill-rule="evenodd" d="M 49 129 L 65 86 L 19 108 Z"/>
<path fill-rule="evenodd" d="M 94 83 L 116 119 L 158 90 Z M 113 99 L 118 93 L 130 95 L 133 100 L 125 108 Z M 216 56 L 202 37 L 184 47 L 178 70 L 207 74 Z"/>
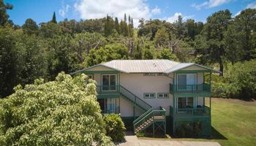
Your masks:
<path fill-rule="evenodd" d="M 124 122 L 121 117 L 117 114 L 105 115 L 105 129 L 108 137 L 111 137 L 113 142 L 121 142 L 124 140 Z"/>

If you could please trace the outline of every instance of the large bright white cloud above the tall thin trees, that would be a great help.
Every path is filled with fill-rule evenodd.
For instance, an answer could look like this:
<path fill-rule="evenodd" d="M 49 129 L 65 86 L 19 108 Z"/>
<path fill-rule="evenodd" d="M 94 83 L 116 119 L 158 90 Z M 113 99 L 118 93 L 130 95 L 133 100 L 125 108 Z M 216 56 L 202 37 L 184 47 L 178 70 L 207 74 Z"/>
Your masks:
<path fill-rule="evenodd" d="M 106 15 L 124 19 L 124 13 L 133 18 L 138 26 L 140 18 L 151 18 L 151 11 L 144 0 L 78 0 L 75 2 L 75 11 L 82 19 L 104 18 Z"/>

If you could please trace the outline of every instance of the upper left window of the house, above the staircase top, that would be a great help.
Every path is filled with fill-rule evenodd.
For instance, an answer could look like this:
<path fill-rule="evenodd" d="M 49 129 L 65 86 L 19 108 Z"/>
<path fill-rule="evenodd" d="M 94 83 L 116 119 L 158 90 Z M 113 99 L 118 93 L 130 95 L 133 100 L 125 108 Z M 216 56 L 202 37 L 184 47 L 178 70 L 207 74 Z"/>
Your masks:
<path fill-rule="evenodd" d="M 117 74 L 102 74 L 102 91 L 116 91 Z"/>

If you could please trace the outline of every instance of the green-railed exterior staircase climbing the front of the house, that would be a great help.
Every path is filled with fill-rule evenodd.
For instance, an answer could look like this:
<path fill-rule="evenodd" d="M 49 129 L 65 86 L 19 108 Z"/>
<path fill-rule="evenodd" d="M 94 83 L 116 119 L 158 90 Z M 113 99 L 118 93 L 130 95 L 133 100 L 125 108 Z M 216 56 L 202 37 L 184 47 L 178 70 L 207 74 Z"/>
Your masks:
<path fill-rule="evenodd" d="M 121 85 L 119 92 L 121 93 L 121 96 L 124 97 L 124 99 L 127 99 L 127 101 L 144 112 L 143 115 L 140 115 L 140 117 L 135 119 L 132 123 L 135 134 L 145 130 L 151 125 L 153 125 L 153 135 L 155 131 L 155 125 L 158 126 L 157 129 L 162 129 L 162 131 L 164 131 L 166 134 L 166 111 L 164 108 L 159 107 L 159 110 L 153 110 L 151 105 L 140 99 L 138 96 L 135 96 L 134 93 L 128 91 Z"/>

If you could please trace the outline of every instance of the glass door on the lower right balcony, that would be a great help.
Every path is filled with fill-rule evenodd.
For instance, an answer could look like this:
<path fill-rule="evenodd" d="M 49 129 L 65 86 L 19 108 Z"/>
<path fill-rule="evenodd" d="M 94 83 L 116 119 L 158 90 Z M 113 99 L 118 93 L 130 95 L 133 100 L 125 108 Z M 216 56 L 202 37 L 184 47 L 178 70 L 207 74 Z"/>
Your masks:
<path fill-rule="evenodd" d="M 194 107 L 193 97 L 178 97 L 177 99 L 177 109 L 178 112 L 183 112 L 184 109 L 189 109 Z"/>

